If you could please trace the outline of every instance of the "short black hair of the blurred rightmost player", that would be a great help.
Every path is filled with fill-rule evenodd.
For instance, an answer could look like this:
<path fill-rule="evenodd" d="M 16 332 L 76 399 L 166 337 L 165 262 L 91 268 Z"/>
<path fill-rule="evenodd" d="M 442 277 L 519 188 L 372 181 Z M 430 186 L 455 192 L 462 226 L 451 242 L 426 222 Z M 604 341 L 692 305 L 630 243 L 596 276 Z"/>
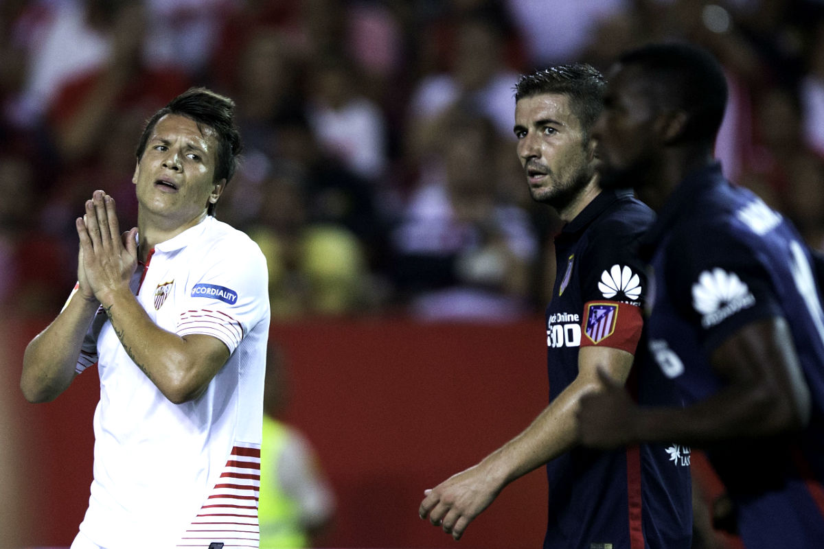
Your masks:
<path fill-rule="evenodd" d="M 647 44 L 621 54 L 617 63 L 637 67 L 663 108 L 679 109 L 690 119 L 681 139 L 713 142 L 727 108 L 727 78 L 716 58 L 692 44 Z"/>

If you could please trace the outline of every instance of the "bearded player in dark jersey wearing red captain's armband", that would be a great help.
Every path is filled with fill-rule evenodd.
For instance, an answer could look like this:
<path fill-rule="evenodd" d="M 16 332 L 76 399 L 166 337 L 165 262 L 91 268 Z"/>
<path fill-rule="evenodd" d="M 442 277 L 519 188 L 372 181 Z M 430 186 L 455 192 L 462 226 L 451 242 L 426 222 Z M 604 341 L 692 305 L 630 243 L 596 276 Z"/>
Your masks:
<path fill-rule="evenodd" d="M 583 64 L 551 67 L 517 82 L 514 131 L 531 196 L 565 221 L 555 240 L 558 273 L 546 309 L 550 404 L 520 435 L 427 492 L 420 516 L 456 539 L 505 486 L 546 464 L 544 547 L 691 547 L 687 449 L 578 447 L 575 408 L 581 395 L 602 383 L 598 365 L 640 399 L 672 403 L 658 369 L 633 367 L 647 290 L 634 248 L 653 212 L 629 191 L 599 186 L 590 129 L 603 86 L 601 74 Z"/>

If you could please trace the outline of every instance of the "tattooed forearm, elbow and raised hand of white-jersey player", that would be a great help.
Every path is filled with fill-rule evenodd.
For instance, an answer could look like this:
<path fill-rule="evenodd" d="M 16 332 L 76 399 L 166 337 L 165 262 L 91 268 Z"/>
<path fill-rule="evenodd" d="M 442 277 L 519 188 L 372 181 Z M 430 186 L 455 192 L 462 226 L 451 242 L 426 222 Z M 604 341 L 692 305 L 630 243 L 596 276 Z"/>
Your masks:
<path fill-rule="evenodd" d="M 171 402 L 198 398 L 229 358 L 217 337 L 178 336 L 152 322 L 129 289 L 137 267 L 137 244 L 119 238 L 115 201 L 95 191 L 77 235 L 89 286 L 108 315 L 125 351 Z M 124 245 L 125 240 L 125 245 Z"/>

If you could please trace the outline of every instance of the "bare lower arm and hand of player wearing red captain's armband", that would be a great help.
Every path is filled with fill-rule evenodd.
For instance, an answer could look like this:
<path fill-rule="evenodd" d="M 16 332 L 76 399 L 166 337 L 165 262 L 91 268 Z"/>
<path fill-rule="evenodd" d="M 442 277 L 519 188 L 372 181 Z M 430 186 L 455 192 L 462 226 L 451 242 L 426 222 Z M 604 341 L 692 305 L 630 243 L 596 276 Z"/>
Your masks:
<path fill-rule="evenodd" d="M 633 356 L 611 347 L 582 347 L 578 352 L 578 376 L 534 421 L 513 440 L 480 463 L 449 477 L 420 504 L 421 519 L 460 539 L 466 527 L 510 482 L 558 457 L 578 443 L 578 399 L 601 385 L 601 365 L 616 384 L 630 375 Z"/>

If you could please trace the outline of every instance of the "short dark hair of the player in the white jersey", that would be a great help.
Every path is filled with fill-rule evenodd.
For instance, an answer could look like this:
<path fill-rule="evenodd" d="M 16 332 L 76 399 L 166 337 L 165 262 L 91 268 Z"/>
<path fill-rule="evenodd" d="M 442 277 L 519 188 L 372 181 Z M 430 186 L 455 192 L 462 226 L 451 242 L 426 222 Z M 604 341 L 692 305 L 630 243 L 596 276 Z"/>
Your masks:
<path fill-rule="evenodd" d="M 166 114 L 178 114 L 188 119 L 194 120 L 200 126 L 212 128 L 218 137 L 218 151 L 214 169 L 214 180 L 226 179 L 226 185 L 232 177 L 240 163 L 240 155 L 243 151 L 241 135 L 237 129 L 235 119 L 235 102 L 228 97 L 215 93 L 204 87 L 192 87 L 168 105 L 158 110 L 157 113 L 148 119 L 146 128 L 143 128 L 143 135 L 138 142 L 137 157 L 138 162 L 143 158 L 143 151 L 146 150 L 146 143 L 152 131 L 157 125 L 157 121 Z M 225 189 L 225 187 L 224 187 Z M 207 213 L 214 215 L 217 204 L 209 202 Z"/>

